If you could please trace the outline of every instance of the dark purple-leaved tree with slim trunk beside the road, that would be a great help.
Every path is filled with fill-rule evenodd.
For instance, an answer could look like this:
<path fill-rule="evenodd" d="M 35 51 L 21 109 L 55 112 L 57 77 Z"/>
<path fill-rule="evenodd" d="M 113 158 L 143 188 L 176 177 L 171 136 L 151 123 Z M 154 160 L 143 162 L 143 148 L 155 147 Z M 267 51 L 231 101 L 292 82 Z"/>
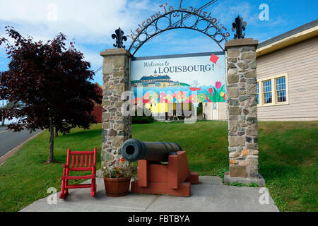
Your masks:
<path fill-rule="evenodd" d="M 54 127 L 65 134 L 76 126 L 89 129 L 96 122 L 90 113 L 93 101 L 100 103 L 101 97 L 90 82 L 94 72 L 72 42 L 66 47 L 62 33 L 53 40 L 35 42 L 13 27 L 6 27 L 6 32 L 14 44 L 4 37 L 0 39 L 11 60 L 8 71 L 0 73 L 0 100 L 12 103 L 4 110 L 6 118 L 18 119 L 8 129 L 49 129 L 47 162 L 55 162 Z M 23 106 L 19 107 L 18 102 Z"/>

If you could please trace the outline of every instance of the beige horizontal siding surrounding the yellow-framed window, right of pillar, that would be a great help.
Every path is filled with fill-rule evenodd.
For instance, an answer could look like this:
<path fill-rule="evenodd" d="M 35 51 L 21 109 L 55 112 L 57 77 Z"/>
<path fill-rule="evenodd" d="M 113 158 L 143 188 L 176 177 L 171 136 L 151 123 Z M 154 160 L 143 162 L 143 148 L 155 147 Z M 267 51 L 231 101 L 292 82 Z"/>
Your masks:
<path fill-rule="evenodd" d="M 318 120 L 318 37 L 257 57 L 257 79 L 288 73 L 288 105 L 258 107 L 260 121 Z"/>

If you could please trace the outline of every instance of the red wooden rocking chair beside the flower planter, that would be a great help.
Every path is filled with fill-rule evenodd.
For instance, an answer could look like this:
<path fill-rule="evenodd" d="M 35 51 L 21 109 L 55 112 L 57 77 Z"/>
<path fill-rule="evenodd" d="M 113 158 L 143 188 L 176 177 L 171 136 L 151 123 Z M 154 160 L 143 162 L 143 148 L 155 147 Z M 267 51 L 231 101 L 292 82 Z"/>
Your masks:
<path fill-rule="evenodd" d="M 93 159 L 93 162 L 92 162 Z M 61 177 L 61 193 L 59 198 L 65 198 L 69 194 L 69 189 L 90 188 L 90 196 L 96 194 L 96 159 L 97 149 L 93 151 L 72 151 L 67 150 L 66 165 L 63 165 L 63 176 Z M 71 162 L 70 162 L 71 161 Z M 70 171 L 92 171 L 91 175 L 70 176 Z M 91 184 L 69 185 L 69 179 L 92 179 Z"/>

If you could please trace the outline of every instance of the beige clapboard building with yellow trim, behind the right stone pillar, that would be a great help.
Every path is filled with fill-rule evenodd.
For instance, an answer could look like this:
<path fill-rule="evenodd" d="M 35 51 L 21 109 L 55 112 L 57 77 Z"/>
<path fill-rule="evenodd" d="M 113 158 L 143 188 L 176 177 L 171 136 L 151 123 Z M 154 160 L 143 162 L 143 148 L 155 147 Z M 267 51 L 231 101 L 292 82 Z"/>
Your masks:
<path fill-rule="evenodd" d="M 260 121 L 318 120 L 318 20 L 257 48 Z M 226 103 L 204 103 L 207 120 L 226 120 Z"/>

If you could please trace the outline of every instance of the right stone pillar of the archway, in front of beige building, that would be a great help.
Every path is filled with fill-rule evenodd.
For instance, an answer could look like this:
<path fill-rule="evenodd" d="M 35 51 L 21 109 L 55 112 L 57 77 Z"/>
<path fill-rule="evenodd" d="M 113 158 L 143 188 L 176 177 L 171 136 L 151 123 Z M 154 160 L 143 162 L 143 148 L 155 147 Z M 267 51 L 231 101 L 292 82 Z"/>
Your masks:
<path fill-rule="evenodd" d="M 225 173 L 225 184 L 265 184 L 258 167 L 257 45 L 258 40 L 252 38 L 225 43 L 230 157 L 230 172 Z"/>

